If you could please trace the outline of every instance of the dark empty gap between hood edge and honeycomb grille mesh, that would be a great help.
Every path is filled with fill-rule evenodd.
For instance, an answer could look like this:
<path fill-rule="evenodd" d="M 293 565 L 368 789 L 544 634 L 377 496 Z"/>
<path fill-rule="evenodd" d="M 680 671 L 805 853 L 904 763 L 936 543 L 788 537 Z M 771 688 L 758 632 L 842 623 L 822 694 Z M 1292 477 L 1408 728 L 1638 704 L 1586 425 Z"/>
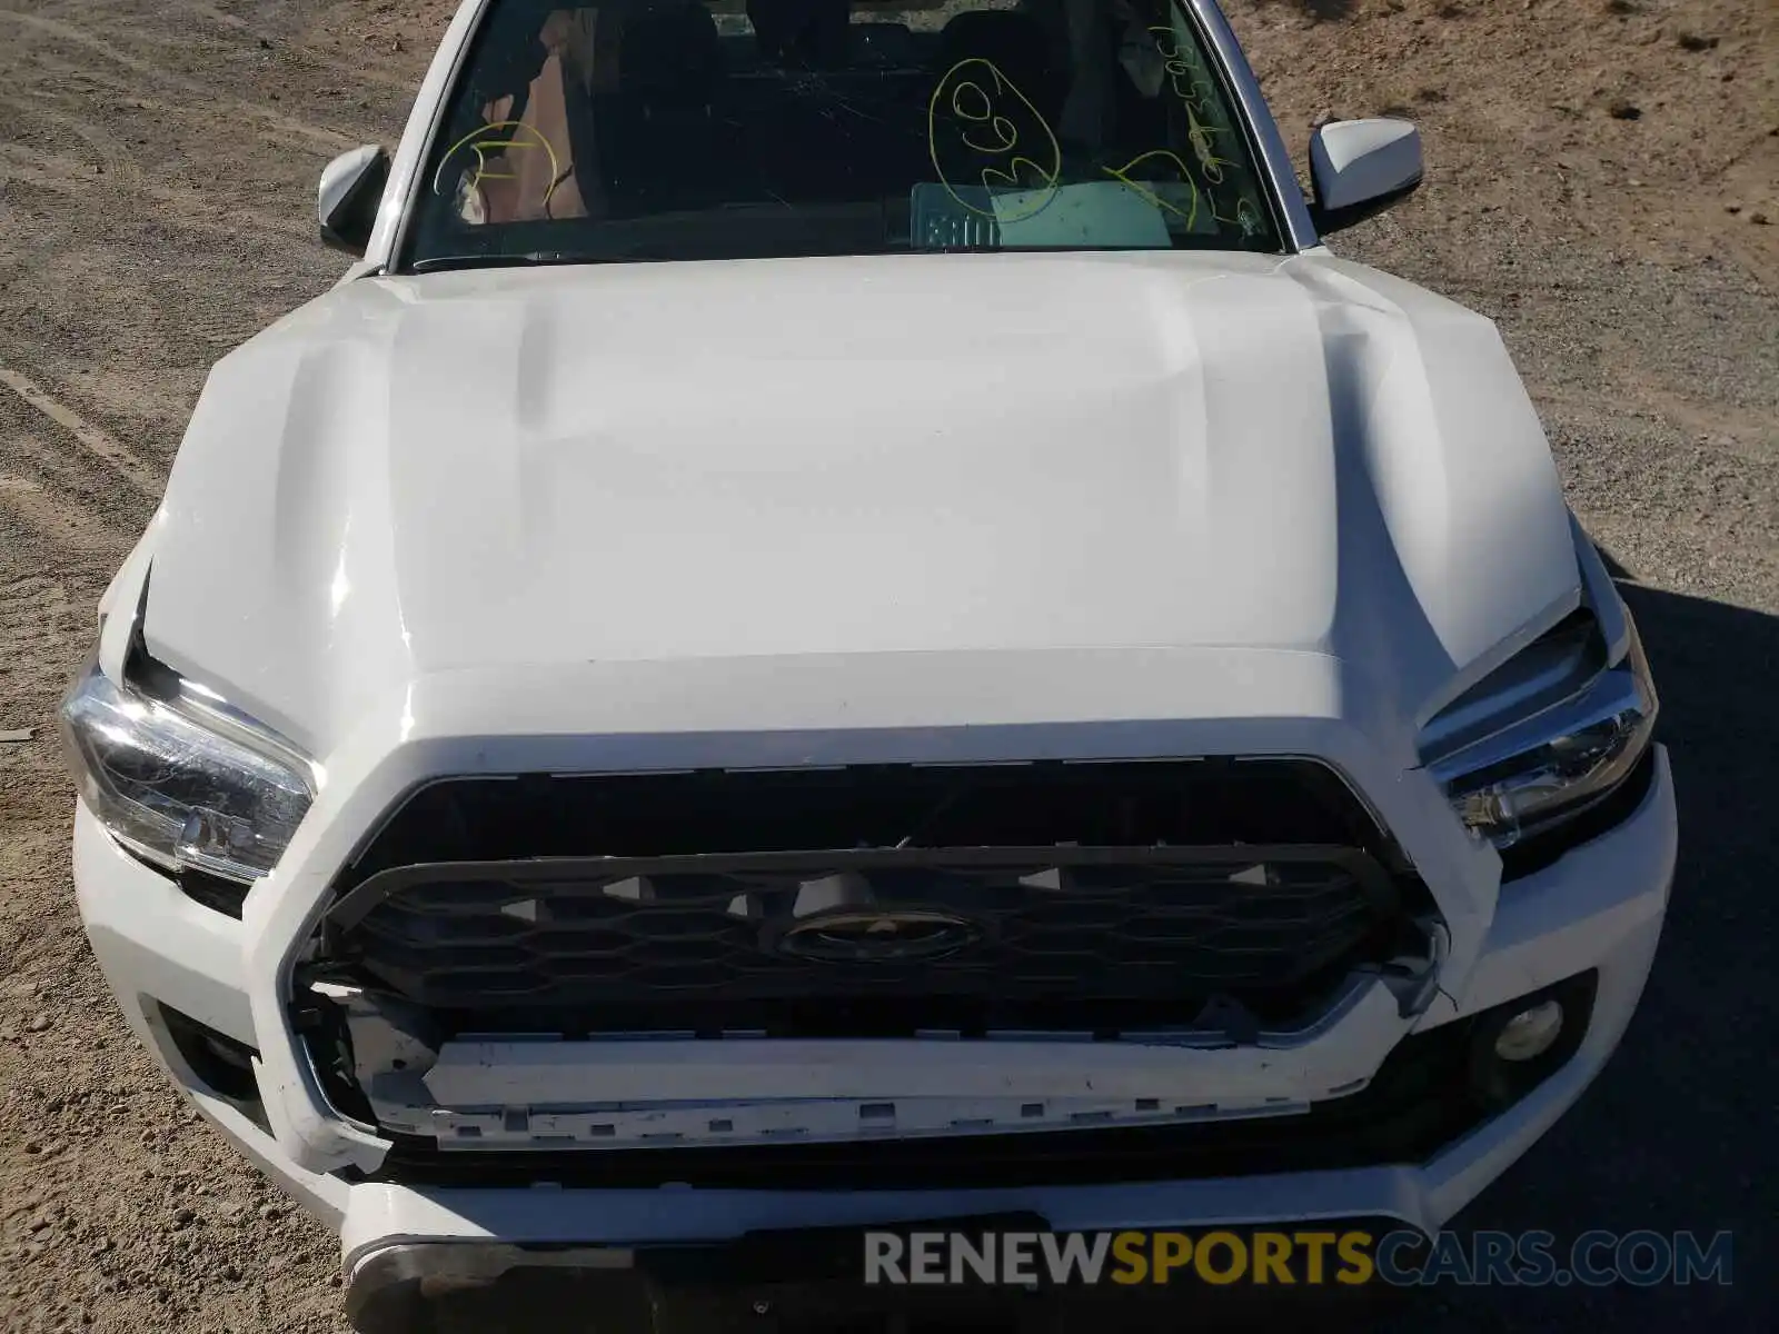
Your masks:
<path fill-rule="evenodd" d="M 436 861 L 1059 843 L 1332 843 L 1404 864 L 1313 759 L 849 765 L 441 779 L 398 804 L 336 889 Z"/>

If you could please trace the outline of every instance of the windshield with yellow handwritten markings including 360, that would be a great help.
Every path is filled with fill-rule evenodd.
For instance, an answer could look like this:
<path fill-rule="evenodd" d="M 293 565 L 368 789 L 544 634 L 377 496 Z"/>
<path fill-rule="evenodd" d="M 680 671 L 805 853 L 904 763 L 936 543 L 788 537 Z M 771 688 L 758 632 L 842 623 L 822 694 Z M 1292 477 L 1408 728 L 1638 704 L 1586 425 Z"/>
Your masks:
<path fill-rule="evenodd" d="M 493 0 L 413 270 L 1279 233 L 1174 0 Z"/>

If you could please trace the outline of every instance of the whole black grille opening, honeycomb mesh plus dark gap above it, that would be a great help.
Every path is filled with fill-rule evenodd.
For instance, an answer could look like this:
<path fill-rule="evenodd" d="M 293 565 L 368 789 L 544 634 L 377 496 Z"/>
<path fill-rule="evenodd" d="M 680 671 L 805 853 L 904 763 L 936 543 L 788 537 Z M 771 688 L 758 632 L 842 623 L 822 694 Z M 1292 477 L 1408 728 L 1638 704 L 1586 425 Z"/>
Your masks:
<path fill-rule="evenodd" d="M 1384 962 L 1389 857 L 1306 761 L 470 779 L 388 822 L 324 950 L 457 1030 L 1123 1033 Z"/>

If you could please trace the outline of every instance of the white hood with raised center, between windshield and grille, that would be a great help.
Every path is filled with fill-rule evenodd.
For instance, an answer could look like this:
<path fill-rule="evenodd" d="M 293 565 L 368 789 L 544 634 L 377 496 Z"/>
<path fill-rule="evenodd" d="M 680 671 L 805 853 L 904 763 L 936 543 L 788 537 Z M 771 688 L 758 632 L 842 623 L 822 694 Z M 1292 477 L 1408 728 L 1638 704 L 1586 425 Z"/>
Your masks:
<path fill-rule="evenodd" d="M 1494 327 L 1304 256 L 363 279 L 212 374 L 149 649 L 326 752 L 468 667 L 1245 646 L 1407 711 L 1573 603 Z"/>

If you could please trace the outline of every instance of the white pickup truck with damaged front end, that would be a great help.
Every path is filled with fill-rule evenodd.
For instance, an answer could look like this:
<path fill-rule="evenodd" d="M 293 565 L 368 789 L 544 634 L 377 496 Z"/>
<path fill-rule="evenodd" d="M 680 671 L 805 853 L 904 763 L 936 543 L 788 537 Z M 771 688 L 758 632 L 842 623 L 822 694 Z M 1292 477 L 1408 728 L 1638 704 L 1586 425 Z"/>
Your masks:
<path fill-rule="evenodd" d="M 1211 0 L 466 0 L 62 711 L 139 1037 L 397 1329 L 1018 1213 L 1436 1229 L 1674 868 L 1489 320 Z"/>

